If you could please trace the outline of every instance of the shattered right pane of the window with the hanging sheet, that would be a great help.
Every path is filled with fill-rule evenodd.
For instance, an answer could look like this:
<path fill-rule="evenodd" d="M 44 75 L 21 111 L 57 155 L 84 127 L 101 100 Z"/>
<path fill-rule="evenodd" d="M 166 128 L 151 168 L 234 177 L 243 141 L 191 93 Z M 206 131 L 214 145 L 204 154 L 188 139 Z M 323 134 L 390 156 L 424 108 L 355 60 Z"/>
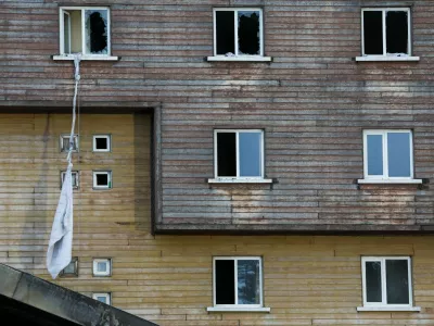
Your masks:
<path fill-rule="evenodd" d="M 86 10 L 86 52 L 107 54 L 107 10 Z"/>

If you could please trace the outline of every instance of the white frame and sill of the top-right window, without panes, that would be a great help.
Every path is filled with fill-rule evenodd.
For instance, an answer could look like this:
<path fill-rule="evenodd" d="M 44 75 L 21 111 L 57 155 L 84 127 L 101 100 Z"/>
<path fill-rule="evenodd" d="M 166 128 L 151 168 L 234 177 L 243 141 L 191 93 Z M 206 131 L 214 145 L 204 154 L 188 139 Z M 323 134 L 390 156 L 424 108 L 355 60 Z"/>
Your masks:
<path fill-rule="evenodd" d="M 381 11 L 382 12 L 382 30 L 383 30 L 383 54 L 366 54 L 365 53 L 365 12 L 367 11 Z M 406 55 L 398 55 L 396 53 L 387 53 L 386 49 L 386 13 L 387 11 L 404 11 L 407 12 L 407 24 L 408 24 L 408 38 L 407 38 L 407 49 L 408 53 Z M 419 57 L 412 57 L 412 40 L 411 40 L 411 10 L 410 8 L 362 8 L 361 9 L 361 57 L 356 57 L 356 61 L 419 61 Z"/>

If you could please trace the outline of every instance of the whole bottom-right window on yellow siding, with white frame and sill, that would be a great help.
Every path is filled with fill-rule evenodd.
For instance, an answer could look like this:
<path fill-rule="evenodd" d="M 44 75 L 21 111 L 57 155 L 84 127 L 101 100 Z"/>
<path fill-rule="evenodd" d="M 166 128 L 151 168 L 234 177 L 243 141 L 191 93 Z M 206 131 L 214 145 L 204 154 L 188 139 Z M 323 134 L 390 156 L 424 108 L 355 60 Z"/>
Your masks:
<path fill-rule="evenodd" d="M 361 269 L 363 308 L 412 308 L 410 258 L 366 256 L 361 259 Z"/>

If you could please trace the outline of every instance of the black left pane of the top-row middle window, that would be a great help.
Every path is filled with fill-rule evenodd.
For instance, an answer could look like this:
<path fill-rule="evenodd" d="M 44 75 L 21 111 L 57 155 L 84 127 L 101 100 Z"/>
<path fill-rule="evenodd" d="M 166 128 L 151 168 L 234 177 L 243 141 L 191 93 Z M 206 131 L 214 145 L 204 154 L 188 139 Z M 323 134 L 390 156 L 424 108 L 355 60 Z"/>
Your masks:
<path fill-rule="evenodd" d="M 217 54 L 235 54 L 235 27 L 233 11 L 216 11 Z"/>

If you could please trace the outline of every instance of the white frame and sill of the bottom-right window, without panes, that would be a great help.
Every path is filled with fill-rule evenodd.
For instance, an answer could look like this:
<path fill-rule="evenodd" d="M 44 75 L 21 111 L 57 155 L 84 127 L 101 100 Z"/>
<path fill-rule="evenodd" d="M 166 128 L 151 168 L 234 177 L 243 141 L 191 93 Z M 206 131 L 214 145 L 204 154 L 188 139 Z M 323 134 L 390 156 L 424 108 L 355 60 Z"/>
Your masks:
<path fill-rule="evenodd" d="M 408 304 L 388 304 L 386 291 L 386 261 L 387 260 L 405 260 L 408 262 Z M 366 281 L 366 263 L 380 262 L 381 263 L 381 294 L 382 302 L 368 302 L 367 301 L 367 281 Z M 363 306 L 357 308 L 358 311 L 420 311 L 420 308 L 413 306 L 413 292 L 412 292 L 412 275 L 411 275 L 411 258 L 410 256 L 362 256 L 361 258 L 361 274 L 362 274 L 362 297 Z"/>

